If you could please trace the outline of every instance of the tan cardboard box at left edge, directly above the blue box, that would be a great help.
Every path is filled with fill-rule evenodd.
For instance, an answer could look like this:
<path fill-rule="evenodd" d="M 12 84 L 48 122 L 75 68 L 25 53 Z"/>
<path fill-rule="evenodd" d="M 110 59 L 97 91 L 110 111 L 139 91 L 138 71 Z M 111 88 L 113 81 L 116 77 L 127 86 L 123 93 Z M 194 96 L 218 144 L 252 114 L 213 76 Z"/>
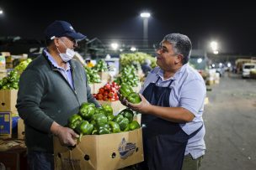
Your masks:
<path fill-rule="evenodd" d="M 17 111 L 18 90 L 0 90 L 0 111 Z"/>

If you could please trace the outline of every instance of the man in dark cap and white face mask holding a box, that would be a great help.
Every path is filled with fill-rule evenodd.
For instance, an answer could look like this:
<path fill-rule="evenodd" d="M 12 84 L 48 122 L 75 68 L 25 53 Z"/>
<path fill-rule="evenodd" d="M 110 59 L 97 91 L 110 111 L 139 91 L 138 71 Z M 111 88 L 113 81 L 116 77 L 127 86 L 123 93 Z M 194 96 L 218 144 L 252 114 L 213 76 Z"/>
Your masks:
<path fill-rule="evenodd" d="M 65 127 L 83 102 L 93 102 L 83 66 L 72 59 L 77 41 L 85 39 L 70 23 L 55 21 L 45 29 L 47 48 L 19 80 L 17 109 L 24 119 L 29 169 L 54 169 L 52 136 L 74 146 L 77 133 Z"/>

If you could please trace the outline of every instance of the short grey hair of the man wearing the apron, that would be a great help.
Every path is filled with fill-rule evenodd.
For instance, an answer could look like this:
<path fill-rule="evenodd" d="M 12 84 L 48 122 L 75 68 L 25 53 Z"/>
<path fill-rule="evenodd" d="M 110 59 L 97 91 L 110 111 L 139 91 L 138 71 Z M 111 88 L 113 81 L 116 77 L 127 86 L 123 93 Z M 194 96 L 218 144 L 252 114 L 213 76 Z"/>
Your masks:
<path fill-rule="evenodd" d="M 163 41 L 168 41 L 170 44 L 173 44 L 173 49 L 176 54 L 183 54 L 183 64 L 189 62 L 192 43 L 187 35 L 181 33 L 169 33 L 163 38 Z"/>

